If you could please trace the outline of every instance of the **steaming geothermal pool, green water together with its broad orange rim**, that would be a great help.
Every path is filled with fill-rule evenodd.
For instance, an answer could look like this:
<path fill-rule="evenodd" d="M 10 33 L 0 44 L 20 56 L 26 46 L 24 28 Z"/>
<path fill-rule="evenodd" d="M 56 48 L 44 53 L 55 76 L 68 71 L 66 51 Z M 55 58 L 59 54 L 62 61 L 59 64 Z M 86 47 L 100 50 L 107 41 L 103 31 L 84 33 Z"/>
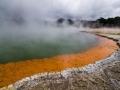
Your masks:
<path fill-rule="evenodd" d="M 0 87 L 44 72 L 82 67 L 111 55 L 114 41 L 71 28 L 0 31 Z"/>

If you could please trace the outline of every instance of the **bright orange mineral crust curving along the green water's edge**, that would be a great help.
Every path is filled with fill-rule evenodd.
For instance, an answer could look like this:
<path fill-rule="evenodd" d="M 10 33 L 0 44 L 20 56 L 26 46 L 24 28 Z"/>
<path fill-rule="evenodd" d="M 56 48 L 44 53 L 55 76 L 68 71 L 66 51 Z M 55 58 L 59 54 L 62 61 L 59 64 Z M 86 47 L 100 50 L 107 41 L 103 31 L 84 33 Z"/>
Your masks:
<path fill-rule="evenodd" d="M 51 58 L 33 59 L 0 64 L 0 87 L 43 72 L 56 72 L 71 67 L 82 67 L 111 55 L 118 46 L 112 40 L 98 37 L 100 43 L 83 53 L 58 55 Z"/>

